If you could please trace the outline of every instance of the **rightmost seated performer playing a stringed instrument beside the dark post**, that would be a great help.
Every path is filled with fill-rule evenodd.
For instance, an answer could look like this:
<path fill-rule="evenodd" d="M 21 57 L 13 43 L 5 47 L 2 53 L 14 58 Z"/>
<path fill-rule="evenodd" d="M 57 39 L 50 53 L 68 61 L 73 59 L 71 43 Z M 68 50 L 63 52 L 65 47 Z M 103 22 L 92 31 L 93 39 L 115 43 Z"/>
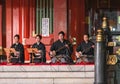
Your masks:
<path fill-rule="evenodd" d="M 89 40 L 88 34 L 84 34 L 83 40 L 76 49 L 77 63 L 94 62 L 94 43 Z"/>

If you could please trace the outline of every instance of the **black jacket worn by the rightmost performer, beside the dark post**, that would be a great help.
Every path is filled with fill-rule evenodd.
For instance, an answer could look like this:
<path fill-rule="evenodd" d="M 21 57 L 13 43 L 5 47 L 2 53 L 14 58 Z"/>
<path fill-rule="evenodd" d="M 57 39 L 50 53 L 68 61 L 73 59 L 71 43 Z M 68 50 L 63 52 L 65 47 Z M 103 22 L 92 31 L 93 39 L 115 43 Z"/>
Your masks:
<path fill-rule="evenodd" d="M 94 48 L 92 47 L 92 45 L 94 45 L 93 42 L 88 41 L 88 43 L 86 43 L 85 41 L 82 41 L 76 51 L 77 52 L 82 52 L 83 55 L 94 55 Z"/>

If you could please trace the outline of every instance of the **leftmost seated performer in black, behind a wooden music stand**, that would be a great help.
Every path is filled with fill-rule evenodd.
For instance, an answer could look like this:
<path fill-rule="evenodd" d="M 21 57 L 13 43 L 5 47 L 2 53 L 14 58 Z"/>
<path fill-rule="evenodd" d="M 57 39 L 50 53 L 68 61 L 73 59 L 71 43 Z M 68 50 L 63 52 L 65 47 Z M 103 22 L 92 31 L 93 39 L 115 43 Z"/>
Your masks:
<path fill-rule="evenodd" d="M 11 46 L 11 48 L 14 48 L 16 51 L 11 54 L 11 63 L 24 63 L 24 47 L 19 42 L 20 36 L 16 34 L 14 36 L 15 43 Z"/>

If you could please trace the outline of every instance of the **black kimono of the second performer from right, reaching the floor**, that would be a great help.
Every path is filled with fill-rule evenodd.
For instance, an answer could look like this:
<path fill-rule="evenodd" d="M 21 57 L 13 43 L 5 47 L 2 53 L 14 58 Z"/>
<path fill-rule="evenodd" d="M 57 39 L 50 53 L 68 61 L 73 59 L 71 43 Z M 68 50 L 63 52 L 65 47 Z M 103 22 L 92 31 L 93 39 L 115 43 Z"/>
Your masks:
<path fill-rule="evenodd" d="M 65 47 L 65 45 L 68 45 L 69 48 Z M 64 55 L 64 59 L 66 63 L 72 63 L 73 60 L 71 58 L 72 52 L 73 52 L 73 47 L 70 44 L 70 42 L 68 40 L 64 40 L 63 42 L 61 42 L 60 40 L 57 40 L 56 42 L 54 42 L 50 48 L 51 51 L 55 51 L 56 52 L 56 57 L 59 55 Z M 54 58 L 52 58 L 54 59 Z M 55 60 L 53 63 L 55 63 Z"/>

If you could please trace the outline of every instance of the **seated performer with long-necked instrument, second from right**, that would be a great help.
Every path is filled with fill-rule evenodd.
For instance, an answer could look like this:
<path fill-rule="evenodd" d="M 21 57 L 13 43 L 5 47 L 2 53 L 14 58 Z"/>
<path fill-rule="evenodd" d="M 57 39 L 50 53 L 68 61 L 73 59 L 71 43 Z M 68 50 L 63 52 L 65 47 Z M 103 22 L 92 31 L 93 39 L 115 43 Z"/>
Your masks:
<path fill-rule="evenodd" d="M 58 40 L 54 42 L 50 48 L 51 62 L 56 63 L 72 63 L 71 54 L 73 47 L 68 40 L 64 39 L 64 32 L 58 33 Z"/>

